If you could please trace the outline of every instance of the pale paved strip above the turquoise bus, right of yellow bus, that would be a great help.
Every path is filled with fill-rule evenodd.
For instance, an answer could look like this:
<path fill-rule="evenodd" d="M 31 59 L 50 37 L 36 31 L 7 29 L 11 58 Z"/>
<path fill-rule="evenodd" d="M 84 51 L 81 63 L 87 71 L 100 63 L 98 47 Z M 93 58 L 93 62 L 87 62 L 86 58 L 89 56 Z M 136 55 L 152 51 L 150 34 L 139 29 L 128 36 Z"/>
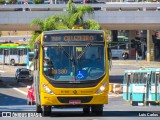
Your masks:
<path fill-rule="evenodd" d="M 146 60 L 112 60 L 112 66 L 135 66 L 135 67 L 146 67 L 146 68 L 160 68 L 160 62 L 151 61 L 147 62 Z"/>

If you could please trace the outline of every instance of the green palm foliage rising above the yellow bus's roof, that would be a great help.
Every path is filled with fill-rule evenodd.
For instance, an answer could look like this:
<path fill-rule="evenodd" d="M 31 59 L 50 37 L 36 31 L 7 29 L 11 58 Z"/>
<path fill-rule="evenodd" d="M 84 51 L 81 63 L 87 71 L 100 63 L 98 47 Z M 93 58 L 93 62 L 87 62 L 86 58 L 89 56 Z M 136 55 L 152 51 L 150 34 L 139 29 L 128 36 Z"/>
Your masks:
<path fill-rule="evenodd" d="M 41 32 L 49 30 L 72 29 L 75 26 L 83 27 L 84 29 L 99 30 L 101 29 L 99 23 L 92 19 L 86 21 L 84 20 L 84 16 L 86 14 L 90 15 L 93 13 L 93 7 L 88 5 L 81 5 L 76 7 L 75 3 L 69 0 L 67 3 L 65 15 L 54 15 L 46 18 L 45 20 L 36 18 L 32 21 L 31 25 L 38 26 Z M 31 41 L 32 40 L 33 39 L 31 39 Z M 30 42 L 30 46 L 33 45 L 34 40 L 33 42 Z"/>

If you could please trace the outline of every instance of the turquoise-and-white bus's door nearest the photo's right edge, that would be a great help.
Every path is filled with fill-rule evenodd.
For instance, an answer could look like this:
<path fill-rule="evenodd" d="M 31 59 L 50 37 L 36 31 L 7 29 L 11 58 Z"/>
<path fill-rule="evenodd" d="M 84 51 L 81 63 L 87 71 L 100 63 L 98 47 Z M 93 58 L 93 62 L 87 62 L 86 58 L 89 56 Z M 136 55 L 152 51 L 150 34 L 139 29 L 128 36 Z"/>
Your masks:
<path fill-rule="evenodd" d="M 156 72 L 155 74 L 155 101 L 160 102 L 160 75 L 159 72 Z"/>

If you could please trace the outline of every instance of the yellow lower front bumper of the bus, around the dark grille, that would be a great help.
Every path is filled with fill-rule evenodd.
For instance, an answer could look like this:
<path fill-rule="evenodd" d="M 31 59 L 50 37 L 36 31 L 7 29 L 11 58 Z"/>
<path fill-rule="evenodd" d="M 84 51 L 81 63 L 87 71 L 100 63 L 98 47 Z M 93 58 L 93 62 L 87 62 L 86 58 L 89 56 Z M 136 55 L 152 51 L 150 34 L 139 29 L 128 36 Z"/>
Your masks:
<path fill-rule="evenodd" d="M 83 105 L 94 105 L 94 104 L 108 104 L 108 95 L 48 95 L 43 94 L 41 96 L 41 105 L 50 106 L 83 106 Z"/>

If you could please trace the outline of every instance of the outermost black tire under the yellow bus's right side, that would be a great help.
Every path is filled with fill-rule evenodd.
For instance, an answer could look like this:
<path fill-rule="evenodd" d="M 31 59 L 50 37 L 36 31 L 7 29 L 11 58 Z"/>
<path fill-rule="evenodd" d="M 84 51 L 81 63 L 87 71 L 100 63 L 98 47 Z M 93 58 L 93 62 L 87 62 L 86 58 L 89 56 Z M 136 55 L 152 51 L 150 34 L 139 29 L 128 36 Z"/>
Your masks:
<path fill-rule="evenodd" d="M 103 105 L 93 105 L 91 106 L 92 113 L 96 115 L 102 115 L 103 114 Z"/>

